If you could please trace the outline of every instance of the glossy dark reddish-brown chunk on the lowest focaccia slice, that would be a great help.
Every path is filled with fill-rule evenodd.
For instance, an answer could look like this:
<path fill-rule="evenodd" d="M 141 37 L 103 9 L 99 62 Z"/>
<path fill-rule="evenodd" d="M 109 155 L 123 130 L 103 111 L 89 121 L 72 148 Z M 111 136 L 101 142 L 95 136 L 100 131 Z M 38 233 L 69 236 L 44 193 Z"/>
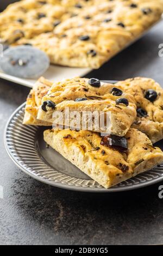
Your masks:
<path fill-rule="evenodd" d="M 118 137 L 116 135 L 109 135 L 102 137 L 101 145 L 106 147 L 112 147 L 120 151 L 127 150 L 127 139 L 125 137 Z"/>

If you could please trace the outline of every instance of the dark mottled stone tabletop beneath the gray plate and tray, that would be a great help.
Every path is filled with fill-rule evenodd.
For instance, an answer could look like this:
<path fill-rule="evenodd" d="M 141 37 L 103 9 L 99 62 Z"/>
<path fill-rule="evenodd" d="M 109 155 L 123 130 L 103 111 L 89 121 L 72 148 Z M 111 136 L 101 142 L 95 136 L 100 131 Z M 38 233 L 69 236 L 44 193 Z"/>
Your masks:
<path fill-rule="evenodd" d="M 153 77 L 163 84 L 163 22 L 87 77 L 121 80 Z M 10 114 L 29 89 L 0 80 L 0 244 L 158 244 L 163 242 L 163 199 L 156 184 L 123 193 L 89 194 L 41 184 L 18 169 L 3 145 Z M 163 181 L 162 181 L 163 185 Z"/>

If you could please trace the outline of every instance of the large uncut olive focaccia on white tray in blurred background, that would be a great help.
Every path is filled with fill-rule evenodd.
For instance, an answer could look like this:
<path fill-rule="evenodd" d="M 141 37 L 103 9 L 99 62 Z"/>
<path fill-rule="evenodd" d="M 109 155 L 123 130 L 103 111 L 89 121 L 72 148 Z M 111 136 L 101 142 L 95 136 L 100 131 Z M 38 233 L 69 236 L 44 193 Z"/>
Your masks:
<path fill-rule="evenodd" d="M 163 0 L 23 0 L 0 15 L 0 38 L 31 44 L 51 63 L 99 68 L 161 17 Z"/>

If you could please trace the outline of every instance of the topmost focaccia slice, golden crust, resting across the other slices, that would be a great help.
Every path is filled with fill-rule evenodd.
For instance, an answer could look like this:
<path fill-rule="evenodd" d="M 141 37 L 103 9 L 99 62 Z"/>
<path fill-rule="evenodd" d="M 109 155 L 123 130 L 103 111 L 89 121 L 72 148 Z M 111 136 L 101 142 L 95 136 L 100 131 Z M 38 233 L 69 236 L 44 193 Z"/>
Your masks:
<path fill-rule="evenodd" d="M 57 118 L 54 118 L 55 112 L 62 112 L 65 120 L 65 109 L 68 108 L 70 113 L 77 111 L 80 114 L 80 120 L 84 111 L 94 112 L 96 111 L 100 120 L 101 113 L 109 113 L 110 125 L 108 130 L 103 130 L 102 126 L 99 126 L 99 130 L 93 125 L 90 126 L 90 120 L 85 120 L 86 129 L 99 132 L 107 132 L 118 136 L 124 136 L 129 130 L 131 124 L 133 124 L 136 118 L 136 105 L 134 97 L 130 94 L 122 92 L 121 96 L 115 96 L 112 93 L 112 88 L 115 88 L 114 84 L 102 83 L 101 86 L 96 88 L 89 84 L 87 78 L 71 78 L 61 82 L 55 82 L 49 89 L 48 93 L 42 98 L 42 105 L 47 100 L 55 103 L 55 109 L 48 107 L 46 111 L 39 108 L 37 119 L 42 121 L 48 121 L 50 123 L 56 123 Z M 76 101 L 79 98 L 85 98 L 84 101 Z M 129 105 L 117 104 L 118 99 L 127 99 Z M 66 125 L 65 122 L 62 123 Z M 82 127 L 82 128 L 81 128 Z M 83 126 L 80 123 L 78 129 L 82 130 Z"/>

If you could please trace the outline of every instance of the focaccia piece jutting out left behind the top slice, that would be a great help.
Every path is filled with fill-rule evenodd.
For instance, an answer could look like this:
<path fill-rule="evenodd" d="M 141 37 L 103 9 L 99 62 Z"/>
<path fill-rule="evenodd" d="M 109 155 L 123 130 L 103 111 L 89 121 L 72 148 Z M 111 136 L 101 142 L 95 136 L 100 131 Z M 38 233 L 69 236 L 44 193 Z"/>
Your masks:
<path fill-rule="evenodd" d="M 37 119 L 42 97 L 47 94 L 52 84 L 52 82 L 46 80 L 43 77 L 40 77 L 39 80 L 34 84 L 33 89 L 30 90 L 30 93 L 27 97 L 23 124 L 43 126 L 52 125 L 51 123 Z"/>

